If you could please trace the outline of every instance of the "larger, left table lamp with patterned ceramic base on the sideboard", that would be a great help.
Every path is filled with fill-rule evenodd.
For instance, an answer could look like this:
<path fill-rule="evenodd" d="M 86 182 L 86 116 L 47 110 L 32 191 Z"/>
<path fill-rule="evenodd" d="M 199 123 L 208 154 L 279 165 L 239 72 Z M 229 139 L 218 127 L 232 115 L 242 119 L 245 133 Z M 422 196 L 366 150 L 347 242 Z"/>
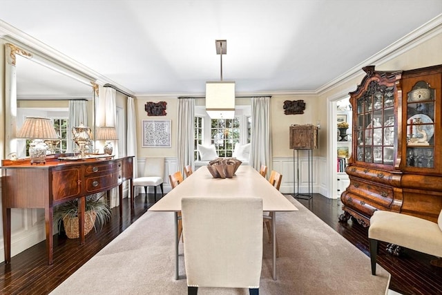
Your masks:
<path fill-rule="evenodd" d="M 44 164 L 48 150 L 44 140 L 57 140 L 59 135 L 49 118 L 26 117 L 17 137 L 32 140 L 29 145 L 30 164 Z"/>

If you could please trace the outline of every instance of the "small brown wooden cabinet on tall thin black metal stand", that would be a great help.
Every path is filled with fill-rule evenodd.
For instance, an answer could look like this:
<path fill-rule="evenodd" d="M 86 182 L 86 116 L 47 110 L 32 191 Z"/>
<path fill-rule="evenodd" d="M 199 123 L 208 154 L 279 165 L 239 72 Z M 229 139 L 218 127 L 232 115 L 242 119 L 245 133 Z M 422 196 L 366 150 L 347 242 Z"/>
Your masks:
<path fill-rule="evenodd" d="M 313 198 L 313 150 L 318 149 L 318 127 L 312 124 L 291 125 L 289 127 L 289 146 L 290 149 L 293 149 L 294 190 L 295 190 L 295 183 L 297 187 L 297 190 L 294 191 L 293 196 L 294 198 L 310 200 L 311 198 Z M 308 151 L 308 157 L 307 157 L 308 192 L 307 193 L 300 193 L 299 191 L 299 184 L 300 184 L 299 150 Z M 296 151 L 296 158 L 295 158 L 295 151 Z"/>

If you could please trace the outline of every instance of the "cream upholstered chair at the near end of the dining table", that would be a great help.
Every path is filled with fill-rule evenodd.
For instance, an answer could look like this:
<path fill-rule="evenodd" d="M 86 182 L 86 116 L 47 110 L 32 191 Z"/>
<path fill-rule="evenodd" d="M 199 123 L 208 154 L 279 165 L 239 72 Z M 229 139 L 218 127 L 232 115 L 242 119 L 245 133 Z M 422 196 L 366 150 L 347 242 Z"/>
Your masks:
<path fill-rule="evenodd" d="M 187 197 L 181 209 L 188 294 L 197 294 L 198 287 L 249 288 L 259 294 L 262 199 Z"/>

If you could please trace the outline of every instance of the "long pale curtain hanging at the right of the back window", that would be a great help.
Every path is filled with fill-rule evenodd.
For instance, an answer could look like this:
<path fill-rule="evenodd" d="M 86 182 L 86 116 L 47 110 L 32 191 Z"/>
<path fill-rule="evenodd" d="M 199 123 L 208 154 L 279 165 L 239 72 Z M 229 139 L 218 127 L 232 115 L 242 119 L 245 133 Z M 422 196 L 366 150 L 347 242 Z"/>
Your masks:
<path fill-rule="evenodd" d="M 251 98 L 250 165 L 259 170 L 261 164 L 272 169 L 270 97 Z"/>

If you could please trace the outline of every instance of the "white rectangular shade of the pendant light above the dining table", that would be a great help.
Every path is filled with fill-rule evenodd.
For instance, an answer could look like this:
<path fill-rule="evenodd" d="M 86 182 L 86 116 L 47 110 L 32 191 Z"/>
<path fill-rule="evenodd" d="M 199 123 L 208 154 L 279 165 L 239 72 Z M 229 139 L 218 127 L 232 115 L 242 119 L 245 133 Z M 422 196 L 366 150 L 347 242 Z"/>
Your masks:
<path fill-rule="evenodd" d="M 235 117 L 235 82 L 206 82 L 206 112 L 212 119 Z"/>

